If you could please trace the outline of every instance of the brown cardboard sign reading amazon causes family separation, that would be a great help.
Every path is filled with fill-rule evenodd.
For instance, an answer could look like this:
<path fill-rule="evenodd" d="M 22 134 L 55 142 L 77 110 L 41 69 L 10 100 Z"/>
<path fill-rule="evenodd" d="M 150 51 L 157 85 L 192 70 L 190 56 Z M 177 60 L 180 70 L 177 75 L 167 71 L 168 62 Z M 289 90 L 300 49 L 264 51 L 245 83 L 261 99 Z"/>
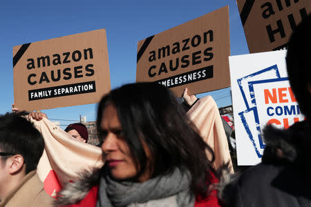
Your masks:
<path fill-rule="evenodd" d="M 19 109 L 97 103 L 111 90 L 106 30 L 15 46 L 13 73 Z"/>

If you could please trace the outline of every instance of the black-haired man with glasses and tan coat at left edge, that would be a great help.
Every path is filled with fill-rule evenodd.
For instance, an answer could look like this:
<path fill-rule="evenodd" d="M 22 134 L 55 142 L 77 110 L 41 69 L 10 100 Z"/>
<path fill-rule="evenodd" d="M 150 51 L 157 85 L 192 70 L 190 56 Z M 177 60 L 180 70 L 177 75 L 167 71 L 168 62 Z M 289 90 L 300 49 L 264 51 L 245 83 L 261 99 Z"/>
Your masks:
<path fill-rule="evenodd" d="M 44 139 L 21 115 L 0 116 L 0 206 L 52 206 L 36 173 Z"/>

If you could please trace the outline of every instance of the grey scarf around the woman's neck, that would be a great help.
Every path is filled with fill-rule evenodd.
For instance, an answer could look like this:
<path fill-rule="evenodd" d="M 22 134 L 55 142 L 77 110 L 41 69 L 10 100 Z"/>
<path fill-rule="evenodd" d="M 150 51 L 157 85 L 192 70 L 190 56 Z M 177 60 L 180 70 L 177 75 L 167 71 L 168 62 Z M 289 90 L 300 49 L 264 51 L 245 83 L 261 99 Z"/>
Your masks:
<path fill-rule="evenodd" d="M 104 175 L 100 179 L 96 207 L 194 206 L 190 181 L 189 172 L 181 172 L 177 168 L 170 175 L 143 183 L 115 181 Z"/>

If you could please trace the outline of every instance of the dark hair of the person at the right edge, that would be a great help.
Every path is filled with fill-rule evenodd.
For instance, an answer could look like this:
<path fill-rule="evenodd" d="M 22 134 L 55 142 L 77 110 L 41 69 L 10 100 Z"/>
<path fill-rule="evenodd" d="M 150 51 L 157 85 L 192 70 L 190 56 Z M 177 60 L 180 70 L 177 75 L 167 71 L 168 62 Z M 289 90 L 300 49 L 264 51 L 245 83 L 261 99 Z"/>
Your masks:
<path fill-rule="evenodd" d="M 288 79 L 301 112 L 311 118 L 311 15 L 295 28 L 288 41 L 286 63 Z"/>

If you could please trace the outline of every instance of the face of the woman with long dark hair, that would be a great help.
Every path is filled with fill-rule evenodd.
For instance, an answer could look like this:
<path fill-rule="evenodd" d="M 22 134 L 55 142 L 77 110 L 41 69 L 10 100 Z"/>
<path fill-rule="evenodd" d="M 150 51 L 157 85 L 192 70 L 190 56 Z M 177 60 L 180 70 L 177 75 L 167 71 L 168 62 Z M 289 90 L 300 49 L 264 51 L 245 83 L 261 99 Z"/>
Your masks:
<path fill-rule="evenodd" d="M 131 156 L 129 146 L 124 141 L 124 134 L 120 120 L 117 117 L 117 110 L 113 104 L 109 104 L 104 109 L 102 122 L 102 150 L 106 155 L 106 165 L 110 168 L 114 179 L 129 179 L 138 174 L 135 162 Z M 149 179 L 149 173 L 143 173 L 139 181 Z"/>

